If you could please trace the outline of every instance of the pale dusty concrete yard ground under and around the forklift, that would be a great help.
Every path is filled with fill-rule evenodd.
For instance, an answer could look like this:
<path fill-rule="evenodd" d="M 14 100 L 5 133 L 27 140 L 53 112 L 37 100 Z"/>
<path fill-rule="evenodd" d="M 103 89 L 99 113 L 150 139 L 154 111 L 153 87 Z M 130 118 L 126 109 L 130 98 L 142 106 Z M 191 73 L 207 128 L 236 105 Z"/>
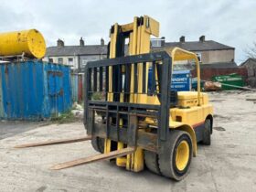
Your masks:
<path fill-rule="evenodd" d="M 256 101 L 247 101 L 256 99 L 256 92 L 223 91 L 209 96 L 215 111 L 212 144 L 198 145 L 190 174 L 183 181 L 147 170 L 128 172 L 107 161 L 51 171 L 51 165 L 96 152 L 90 142 L 13 146 L 81 136 L 86 133 L 82 123 L 0 122 L 0 191 L 256 191 Z"/>

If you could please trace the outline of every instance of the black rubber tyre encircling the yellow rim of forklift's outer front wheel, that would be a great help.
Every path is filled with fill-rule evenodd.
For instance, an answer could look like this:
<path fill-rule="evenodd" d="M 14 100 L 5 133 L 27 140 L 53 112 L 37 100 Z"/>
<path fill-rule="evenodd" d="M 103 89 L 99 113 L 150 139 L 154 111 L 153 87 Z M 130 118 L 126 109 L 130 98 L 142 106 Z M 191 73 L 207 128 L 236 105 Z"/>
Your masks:
<path fill-rule="evenodd" d="M 187 141 L 189 146 L 189 157 L 186 167 L 183 171 L 179 171 L 176 168 L 176 148 L 182 141 Z M 167 141 L 165 142 L 165 148 L 163 153 L 159 153 L 159 168 L 163 176 L 172 178 L 176 181 L 182 180 L 187 176 L 190 163 L 192 160 L 192 139 L 187 132 L 172 130 L 167 135 Z"/>

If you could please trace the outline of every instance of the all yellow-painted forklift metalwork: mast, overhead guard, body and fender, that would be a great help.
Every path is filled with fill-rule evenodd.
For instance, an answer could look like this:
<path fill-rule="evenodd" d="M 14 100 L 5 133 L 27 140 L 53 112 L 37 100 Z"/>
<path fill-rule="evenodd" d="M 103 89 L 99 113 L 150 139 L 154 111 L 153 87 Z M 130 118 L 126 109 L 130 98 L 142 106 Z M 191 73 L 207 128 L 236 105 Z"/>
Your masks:
<path fill-rule="evenodd" d="M 138 17 L 134 17 L 133 23 L 121 26 L 123 32 L 130 32 L 129 36 L 129 55 L 138 55 L 150 52 L 150 36 L 159 35 L 159 23 L 149 16 L 144 16 L 144 25 L 137 26 Z M 115 58 L 116 55 L 116 39 L 118 24 L 114 25 L 114 30 L 111 34 L 110 45 L 110 58 Z M 165 51 L 172 58 L 172 64 L 175 61 L 193 59 L 197 65 L 197 88 L 198 91 L 180 91 L 178 92 L 178 104 L 176 108 L 170 109 L 169 127 L 170 129 L 178 129 L 190 134 L 193 144 L 193 155 L 197 155 L 197 137 L 193 127 L 198 123 L 204 123 L 208 115 L 212 115 L 212 106 L 208 103 L 208 95 L 200 92 L 200 69 L 197 55 L 181 48 L 165 49 Z M 160 63 L 161 64 L 161 63 Z M 148 71 L 149 64 L 146 64 L 146 71 Z M 172 68 L 173 69 L 173 68 Z M 157 96 L 148 96 L 147 94 L 134 94 L 133 92 L 133 74 L 134 65 L 131 69 L 131 103 L 142 104 L 155 104 L 159 105 L 160 102 Z M 143 64 L 138 64 L 138 92 L 143 91 Z M 171 78 L 171 77 L 170 77 Z M 146 82 L 148 81 L 148 73 L 146 72 Z M 157 80 L 156 75 L 156 80 Z M 147 83 L 145 84 L 145 90 L 147 90 Z M 112 94 L 112 67 L 109 67 L 109 92 L 108 101 L 113 101 Z M 121 94 L 120 101 L 123 101 L 123 94 Z M 155 119 L 147 117 L 144 121 L 149 125 L 157 125 Z M 120 125 L 123 124 L 122 119 Z M 145 130 L 145 128 L 144 128 Z M 148 130 L 145 130 L 148 131 Z M 118 143 L 118 149 L 125 147 L 124 144 Z M 111 140 L 105 140 L 105 151 L 109 153 L 111 151 Z M 124 157 L 117 158 L 116 164 L 119 166 L 126 166 L 126 169 L 138 172 L 144 169 L 144 151 L 139 146 L 137 147 L 133 155 L 126 155 Z"/>

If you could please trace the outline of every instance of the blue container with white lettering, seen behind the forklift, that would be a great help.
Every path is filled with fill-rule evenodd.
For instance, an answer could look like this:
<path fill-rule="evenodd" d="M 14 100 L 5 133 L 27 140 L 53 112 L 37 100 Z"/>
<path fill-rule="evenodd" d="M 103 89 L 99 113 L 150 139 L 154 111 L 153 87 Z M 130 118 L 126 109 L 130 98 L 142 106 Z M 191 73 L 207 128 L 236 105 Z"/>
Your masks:
<path fill-rule="evenodd" d="M 151 87 L 152 83 L 152 69 L 148 71 L 148 87 Z M 190 70 L 176 70 L 173 71 L 172 91 L 191 91 L 191 74 Z"/>

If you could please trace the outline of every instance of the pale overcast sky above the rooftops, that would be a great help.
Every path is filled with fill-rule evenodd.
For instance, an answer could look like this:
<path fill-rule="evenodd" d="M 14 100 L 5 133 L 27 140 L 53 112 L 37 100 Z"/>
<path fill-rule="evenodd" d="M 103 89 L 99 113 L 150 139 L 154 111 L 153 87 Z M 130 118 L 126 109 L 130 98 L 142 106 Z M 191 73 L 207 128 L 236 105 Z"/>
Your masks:
<path fill-rule="evenodd" d="M 65 45 L 79 44 L 80 37 L 86 44 L 99 44 L 101 37 L 109 40 L 113 23 L 143 15 L 160 22 L 160 37 L 166 41 L 205 35 L 235 47 L 238 64 L 256 41 L 255 0 L 0 0 L 0 32 L 37 28 L 48 47 L 58 38 Z"/>

